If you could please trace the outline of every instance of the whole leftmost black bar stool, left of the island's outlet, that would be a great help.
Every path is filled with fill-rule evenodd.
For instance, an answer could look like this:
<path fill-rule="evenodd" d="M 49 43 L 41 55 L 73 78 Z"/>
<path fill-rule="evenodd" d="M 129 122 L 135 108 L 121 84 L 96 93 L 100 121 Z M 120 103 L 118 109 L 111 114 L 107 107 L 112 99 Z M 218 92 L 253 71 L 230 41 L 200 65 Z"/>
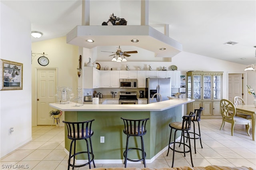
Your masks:
<path fill-rule="evenodd" d="M 63 123 L 66 124 L 68 128 L 68 138 L 72 140 L 70 143 L 70 151 L 69 151 L 69 157 L 68 157 L 68 170 L 70 166 L 72 166 L 73 167 L 72 169 L 74 169 L 74 168 L 86 166 L 88 164 L 89 164 L 89 168 L 91 169 L 91 162 L 93 162 L 93 165 L 95 168 L 94 154 L 92 151 L 92 140 L 91 140 L 91 136 L 93 135 L 92 121 L 94 121 L 94 119 L 90 121 L 83 121 L 83 122 L 62 121 Z M 88 138 L 89 138 L 90 144 L 88 143 L 88 140 L 87 140 Z M 76 140 L 82 140 L 82 139 L 86 141 L 87 150 L 76 153 Z M 74 142 L 74 154 L 71 154 L 73 142 Z M 90 149 L 89 149 L 89 145 L 90 145 Z M 78 154 L 84 154 L 84 153 L 87 153 L 88 162 L 82 165 L 75 165 L 75 156 Z M 71 158 L 73 158 L 73 164 L 70 163 Z"/>

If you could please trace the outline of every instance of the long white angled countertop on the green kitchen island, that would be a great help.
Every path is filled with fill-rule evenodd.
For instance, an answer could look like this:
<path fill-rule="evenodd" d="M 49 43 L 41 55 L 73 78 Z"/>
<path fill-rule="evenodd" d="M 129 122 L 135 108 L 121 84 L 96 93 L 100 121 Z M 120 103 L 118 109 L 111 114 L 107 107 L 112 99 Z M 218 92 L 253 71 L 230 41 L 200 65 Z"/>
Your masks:
<path fill-rule="evenodd" d="M 146 105 L 83 105 L 75 106 L 76 103 L 68 104 L 50 103 L 51 107 L 62 111 L 164 111 L 178 105 L 193 102 L 194 99 L 178 98 Z"/>

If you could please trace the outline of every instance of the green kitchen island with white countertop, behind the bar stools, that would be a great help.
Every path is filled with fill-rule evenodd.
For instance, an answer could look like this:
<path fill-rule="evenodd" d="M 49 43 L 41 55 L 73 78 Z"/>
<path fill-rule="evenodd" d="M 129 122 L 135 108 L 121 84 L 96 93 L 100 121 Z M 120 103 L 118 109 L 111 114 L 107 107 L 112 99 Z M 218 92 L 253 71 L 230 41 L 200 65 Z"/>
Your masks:
<path fill-rule="evenodd" d="M 123 132 L 126 119 L 150 118 L 146 124 L 147 133 L 144 137 L 146 163 L 153 162 L 160 154 L 168 149 L 171 122 L 182 121 L 184 105 L 193 99 L 178 98 L 146 105 L 83 105 L 76 107 L 76 103 L 51 103 L 50 106 L 64 111 L 64 120 L 70 122 L 95 119 L 92 123 L 92 147 L 96 164 L 122 164 L 123 152 L 126 146 L 126 135 Z M 100 143 L 100 136 L 104 136 L 104 143 Z M 179 134 L 180 136 L 180 134 Z M 178 137 L 179 137 L 178 136 Z M 172 139 L 174 140 L 174 139 Z M 71 140 L 67 138 L 65 127 L 65 151 L 68 153 Z M 140 147 L 140 138 L 131 137 L 129 147 Z M 84 141 L 77 141 L 76 148 L 85 150 Z M 86 158 L 78 156 L 77 163 L 83 163 Z M 129 157 L 137 159 L 138 152 L 129 152 Z M 128 163 L 130 163 L 128 161 Z"/>

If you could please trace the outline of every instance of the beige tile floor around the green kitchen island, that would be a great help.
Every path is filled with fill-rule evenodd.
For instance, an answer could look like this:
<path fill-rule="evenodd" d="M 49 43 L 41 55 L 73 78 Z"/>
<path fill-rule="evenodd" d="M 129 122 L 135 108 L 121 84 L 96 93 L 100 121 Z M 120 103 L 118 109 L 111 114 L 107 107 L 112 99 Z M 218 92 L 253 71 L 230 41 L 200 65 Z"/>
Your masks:
<path fill-rule="evenodd" d="M 247 136 L 244 125 L 236 125 L 234 136 L 231 136 L 230 125 L 226 123 L 219 130 L 221 119 L 202 119 L 200 121 L 202 144 L 196 140 L 196 154 L 192 148 L 194 166 L 222 165 L 247 166 L 256 169 L 256 142 L 252 140 L 252 130 Z M 31 142 L 14 150 L 1 158 L 1 169 L 7 165 L 19 165 L 28 170 L 66 170 L 68 156 L 64 152 L 64 127 L 37 126 L 32 127 Z M 194 146 L 193 140 L 192 147 Z M 172 152 L 166 156 L 167 151 L 161 154 L 148 168 L 168 168 L 172 166 Z M 175 153 L 175 166 L 191 166 L 190 156 L 184 157 Z M 99 167 L 124 167 L 123 164 L 96 164 Z M 143 164 L 128 164 L 127 167 L 143 168 Z M 88 169 L 88 166 L 75 168 Z M 18 169 L 18 168 L 10 168 Z"/>

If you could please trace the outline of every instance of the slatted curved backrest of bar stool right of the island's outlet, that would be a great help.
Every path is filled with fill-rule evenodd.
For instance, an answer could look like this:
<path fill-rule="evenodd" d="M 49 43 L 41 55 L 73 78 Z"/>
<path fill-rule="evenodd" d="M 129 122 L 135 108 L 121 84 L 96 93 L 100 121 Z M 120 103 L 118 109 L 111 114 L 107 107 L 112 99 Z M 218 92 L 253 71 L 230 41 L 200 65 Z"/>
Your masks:
<path fill-rule="evenodd" d="M 130 136 L 142 136 L 146 134 L 146 123 L 149 120 L 147 119 L 121 119 L 124 121 L 124 134 L 130 135 Z"/>

